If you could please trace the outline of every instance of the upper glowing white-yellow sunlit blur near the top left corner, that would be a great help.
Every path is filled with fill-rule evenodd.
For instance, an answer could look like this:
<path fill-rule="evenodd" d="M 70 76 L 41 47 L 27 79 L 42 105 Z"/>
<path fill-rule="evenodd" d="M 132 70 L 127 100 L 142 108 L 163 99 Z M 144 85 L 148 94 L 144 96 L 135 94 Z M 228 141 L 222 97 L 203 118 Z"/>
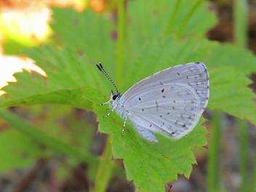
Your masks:
<path fill-rule="evenodd" d="M 47 7 L 4 8 L 1 11 L 0 29 L 4 35 L 15 39 L 20 44 L 40 44 L 52 33 L 48 25 L 50 15 L 51 11 Z"/>

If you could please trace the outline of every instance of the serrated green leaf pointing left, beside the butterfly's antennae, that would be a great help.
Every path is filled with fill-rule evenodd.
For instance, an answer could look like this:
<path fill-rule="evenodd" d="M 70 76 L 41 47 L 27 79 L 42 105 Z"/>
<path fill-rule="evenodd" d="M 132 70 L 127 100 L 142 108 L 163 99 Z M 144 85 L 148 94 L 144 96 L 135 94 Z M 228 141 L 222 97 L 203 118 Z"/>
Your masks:
<path fill-rule="evenodd" d="M 101 80 L 104 77 L 95 70 L 95 66 L 88 63 L 87 57 L 71 48 L 63 47 L 60 50 L 44 45 L 42 48 L 25 49 L 22 52 L 36 60 L 36 64 L 47 73 L 47 78 L 36 72 L 16 73 L 17 82 L 4 87 L 7 95 L 0 97 L 0 107 L 65 104 L 92 110 L 90 101 L 81 100 L 80 88 L 89 85 L 99 92 L 109 92 L 111 89 L 111 84 Z"/>

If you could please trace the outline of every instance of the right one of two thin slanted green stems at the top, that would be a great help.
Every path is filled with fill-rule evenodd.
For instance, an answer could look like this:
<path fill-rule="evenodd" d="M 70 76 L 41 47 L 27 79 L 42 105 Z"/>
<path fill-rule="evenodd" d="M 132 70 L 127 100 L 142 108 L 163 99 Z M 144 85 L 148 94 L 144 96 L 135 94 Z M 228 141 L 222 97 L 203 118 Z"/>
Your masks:
<path fill-rule="evenodd" d="M 197 0 L 196 4 L 194 4 L 193 7 L 191 8 L 191 10 L 188 12 L 188 14 L 185 15 L 185 18 L 183 19 L 182 23 L 180 23 L 179 28 L 177 28 L 177 31 L 176 31 L 176 34 L 175 34 L 177 39 L 180 39 L 180 37 L 183 34 L 185 26 L 188 25 L 189 20 L 191 20 L 191 17 L 196 12 L 196 9 L 201 5 L 201 3 L 203 1 L 204 0 Z"/>

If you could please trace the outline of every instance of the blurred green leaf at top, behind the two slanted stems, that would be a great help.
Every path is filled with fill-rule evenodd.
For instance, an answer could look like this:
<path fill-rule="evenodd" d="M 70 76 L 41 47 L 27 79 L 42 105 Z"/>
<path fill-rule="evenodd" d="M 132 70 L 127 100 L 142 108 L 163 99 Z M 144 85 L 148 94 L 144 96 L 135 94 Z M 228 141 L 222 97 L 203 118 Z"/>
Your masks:
<path fill-rule="evenodd" d="M 177 12 L 173 31 L 177 31 L 185 15 L 190 12 L 194 4 L 196 4 L 196 0 L 182 1 Z M 204 36 L 217 23 L 215 13 L 209 12 L 208 8 L 209 3 L 204 1 L 191 17 L 188 25 L 185 26 L 183 36 Z M 175 1 L 129 1 L 127 17 L 130 31 L 127 34 L 130 35 L 129 37 L 135 34 L 136 39 L 140 40 L 140 44 L 141 41 L 144 44 L 145 41 L 158 37 L 167 28 L 167 23 L 174 9 Z"/>

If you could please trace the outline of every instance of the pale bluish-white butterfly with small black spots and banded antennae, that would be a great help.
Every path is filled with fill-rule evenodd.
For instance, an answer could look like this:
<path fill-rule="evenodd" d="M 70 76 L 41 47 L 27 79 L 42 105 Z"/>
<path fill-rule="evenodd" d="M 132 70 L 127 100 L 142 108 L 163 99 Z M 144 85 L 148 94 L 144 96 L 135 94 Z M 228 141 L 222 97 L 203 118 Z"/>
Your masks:
<path fill-rule="evenodd" d="M 103 65 L 97 68 L 116 88 Z M 173 140 L 187 135 L 198 124 L 209 100 L 209 73 L 204 63 L 187 63 L 167 68 L 132 85 L 123 95 L 111 89 L 111 99 L 98 105 L 110 106 L 127 119 L 143 139 L 159 142 L 158 133 Z M 108 108 L 108 109 L 110 109 Z M 106 117 L 104 116 L 104 117 Z M 129 131 L 129 129 L 128 129 Z"/>

